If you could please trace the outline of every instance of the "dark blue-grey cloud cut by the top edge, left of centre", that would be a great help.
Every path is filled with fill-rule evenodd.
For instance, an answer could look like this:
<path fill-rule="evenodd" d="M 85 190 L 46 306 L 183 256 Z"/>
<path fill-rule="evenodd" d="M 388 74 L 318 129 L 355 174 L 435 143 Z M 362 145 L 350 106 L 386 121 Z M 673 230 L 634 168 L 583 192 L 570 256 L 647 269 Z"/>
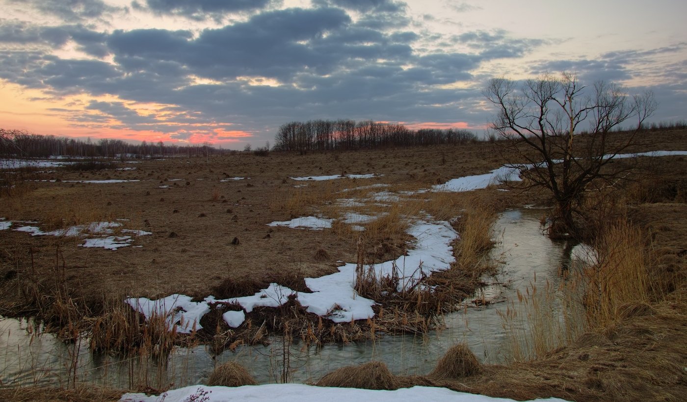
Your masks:
<path fill-rule="evenodd" d="M 148 8 L 159 14 L 173 14 L 190 19 L 206 19 L 229 12 L 244 12 L 265 8 L 274 0 L 145 0 L 133 1 L 131 5 L 139 10 Z"/>

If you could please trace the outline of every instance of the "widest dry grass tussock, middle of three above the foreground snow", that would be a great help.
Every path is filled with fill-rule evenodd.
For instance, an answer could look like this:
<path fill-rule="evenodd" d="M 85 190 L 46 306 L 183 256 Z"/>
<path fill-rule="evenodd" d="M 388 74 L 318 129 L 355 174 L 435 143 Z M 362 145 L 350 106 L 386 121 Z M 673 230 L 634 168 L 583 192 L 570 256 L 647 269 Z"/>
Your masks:
<path fill-rule="evenodd" d="M 315 385 L 319 387 L 363 388 L 365 390 L 398 390 L 401 388 L 401 383 L 396 379 L 396 376 L 389 371 L 386 364 L 380 361 L 370 361 L 370 363 L 360 366 L 339 368 L 322 377 Z"/>

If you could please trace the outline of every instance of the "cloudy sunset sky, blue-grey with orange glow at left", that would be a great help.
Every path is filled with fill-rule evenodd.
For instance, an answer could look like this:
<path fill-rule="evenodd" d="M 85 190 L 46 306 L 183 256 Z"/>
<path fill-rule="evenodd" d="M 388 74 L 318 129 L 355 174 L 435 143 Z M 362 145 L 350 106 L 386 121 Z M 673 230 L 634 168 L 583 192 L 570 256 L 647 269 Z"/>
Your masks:
<path fill-rule="evenodd" d="M 0 128 L 223 148 L 281 124 L 480 131 L 494 77 L 572 71 L 687 118 L 684 0 L 0 0 Z"/>

